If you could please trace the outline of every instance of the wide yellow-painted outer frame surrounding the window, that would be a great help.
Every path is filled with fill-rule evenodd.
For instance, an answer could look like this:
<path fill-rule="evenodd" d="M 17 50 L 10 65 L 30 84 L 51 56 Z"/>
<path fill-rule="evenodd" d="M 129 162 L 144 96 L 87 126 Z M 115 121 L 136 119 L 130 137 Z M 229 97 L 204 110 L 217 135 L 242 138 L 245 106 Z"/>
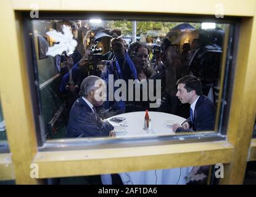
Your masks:
<path fill-rule="evenodd" d="M 52 7 L 59 7 L 57 10 L 65 10 L 66 12 L 73 12 L 75 10 L 120 10 L 130 12 L 147 12 L 147 13 L 175 13 L 175 14 L 215 14 L 215 10 L 209 7 L 215 6 L 215 1 L 200 1 L 197 7 L 193 7 L 191 1 L 186 2 L 173 2 L 171 6 L 163 6 L 160 10 L 154 5 L 146 4 L 144 1 L 140 1 L 139 4 L 144 5 L 144 8 L 138 9 L 138 6 L 133 7 L 134 4 L 128 5 L 128 7 L 122 7 L 116 3 L 116 7 L 105 7 L 102 4 L 93 4 L 93 2 L 85 2 L 76 0 L 72 1 L 60 1 L 46 4 L 39 2 L 39 6 L 44 10 L 53 10 Z M 135 1 L 134 1 L 135 2 Z M 163 4 L 164 1 L 161 1 Z M 159 3 L 161 3 L 159 2 Z M 187 6 L 184 6 L 186 3 Z M 85 5 L 86 4 L 86 5 Z M 255 65 L 255 52 L 256 48 L 254 44 L 256 41 L 256 22 L 255 22 L 255 2 L 246 0 L 243 5 L 243 9 L 238 2 L 226 1 L 225 3 L 225 15 L 242 17 L 241 30 L 239 31 L 239 48 L 237 51 L 237 68 L 234 76 L 233 95 L 231 98 L 231 111 L 229 112 L 229 119 L 227 125 L 227 139 L 220 142 L 198 142 L 189 143 L 188 147 L 192 150 L 188 150 L 188 147 L 179 147 L 178 144 L 174 145 L 159 145 L 154 153 L 149 155 L 143 155 L 144 149 L 141 148 L 109 148 L 108 150 L 94 150 L 92 155 L 93 159 L 85 158 L 84 153 L 88 150 L 81 151 L 48 151 L 47 155 L 43 155 L 43 152 L 38 151 L 38 145 L 36 143 L 36 127 L 33 119 L 33 110 L 31 107 L 31 91 L 28 90 L 29 82 L 26 71 L 25 52 L 23 46 L 25 46 L 22 38 L 22 17 L 20 16 L 20 10 L 30 10 L 30 1 L 4 1 L 2 7 L 4 9 L 1 12 L 1 20 L 7 24 L 7 32 L 1 32 L 2 38 L 12 38 L 8 43 L 2 42 L 3 49 L 9 49 L 12 54 L 6 54 L 6 60 L 9 57 L 9 61 L 6 61 L 6 68 L 4 74 L 0 74 L 0 87 L 3 113 L 6 119 L 7 135 L 9 137 L 8 142 L 10 151 L 12 152 L 12 160 L 14 163 L 14 171 L 16 177 L 16 183 L 37 183 L 38 179 L 31 179 L 30 168 L 28 165 L 33 162 L 39 164 L 39 179 L 43 177 L 57 177 L 57 176 L 72 176 L 72 175 L 86 175 L 86 174 L 100 174 L 108 172 L 119 172 L 121 169 L 117 169 L 118 166 L 122 166 L 122 170 L 146 170 L 146 169 L 159 169 L 168 167 L 185 167 L 187 165 L 200 165 L 200 164 L 215 164 L 226 163 L 225 165 L 225 179 L 221 183 L 242 183 L 244 177 L 244 171 L 247 153 L 250 144 L 250 138 L 252 131 L 250 131 L 251 125 L 255 121 L 255 99 L 253 95 L 248 93 L 255 92 L 256 88 L 251 86 L 255 79 L 254 65 Z M 55 5 L 55 6 L 54 6 Z M 76 6 L 79 5 L 79 6 Z M 145 6 L 147 5 L 147 6 Z M 85 7 L 83 9 L 82 7 Z M 189 8 L 193 7 L 192 10 Z M 55 9 L 56 10 L 56 9 Z M 154 10 L 154 11 L 152 11 Z M 3 51 L 5 52 L 5 51 Z M 12 57 L 12 58 L 10 58 Z M 9 66 L 9 67 L 8 67 Z M 13 73 L 15 69 L 15 73 Z M 6 81 L 10 77 L 14 78 L 14 82 L 6 85 Z M 13 89 L 17 91 L 14 92 Z M 242 94 L 241 94 L 242 92 Z M 19 103 L 15 103 L 15 99 L 19 97 Z M 17 101 L 17 100 L 16 100 Z M 10 114 L 6 109 L 11 108 L 19 113 Z M 239 119 L 242 119 L 242 123 L 239 124 Z M 14 124 L 14 122 L 16 124 Z M 19 131 L 17 133 L 16 131 Z M 250 136 L 249 136 L 250 135 Z M 244 145 L 245 144 L 245 145 Z M 228 145 L 228 148 L 226 147 Z M 23 151 L 20 152 L 20 148 Z M 145 147 L 146 148 L 146 147 Z M 155 146 L 147 147 L 155 148 Z M 139 154 L 135 155 L 134 151 L 139 150 Z M 167 151 L 164 151 L 167 150 Z M 173 150 L 173 151 L 171 151 Z M 108 151 L 108 156 L 104 155 L 104 151 Z M 122 155 L 123 151 L 126 151 L 126 155 Z M 75 159 L 61 159 L 62 156 L 67 153 L 72 155 L 77 153 Z M 202 154 L 203 153 L 203 154 Z M 213 154 L 217 153 L 217 154 Z M 203 156 L 202 156 L 203 155 Z M 46 157 L 47 156 L 47 157 Z M 222 156 L 226 156 L 226 159 L 222 160 Z M 207 158 L 200 160 L 201 158 Z M 159 159 L 162 165 L 154 162 Z M 59 160 L 58 160 L 59 159 Z M 191 161 L 189 161 L 191 159 Z M 168 162 L 175 161 L 175 162 Z M 138 162 L 138 163 L 136 163 Z M 103 168 L 97 168 L 94 166 L 88 166 L 87 164 L 101 164 Z M 134 168 L 130 168 L 136 164 Z M 60 168 L 60 166 L 62 166 Z M 76 171 L 69 171 L 68 167 L 73 167 Z M 105 167 L 107 166 L 107 167 Z M 238 167 L 239 166 L 239 167 Z M 83 167 L 79 169 L 79 167 Z M 105 167 L 105 169 L 104 169 Z M 25 170 L 24 170 L 25 169 Z M 239 169 L 239 171 L 237 171 Z"/>

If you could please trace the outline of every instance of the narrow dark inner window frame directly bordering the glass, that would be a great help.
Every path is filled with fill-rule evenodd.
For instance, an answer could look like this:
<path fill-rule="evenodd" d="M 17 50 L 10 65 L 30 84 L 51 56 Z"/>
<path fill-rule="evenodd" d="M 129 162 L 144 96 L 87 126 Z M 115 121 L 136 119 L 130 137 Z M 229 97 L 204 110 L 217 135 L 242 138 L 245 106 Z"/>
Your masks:
<path fill-rule="evenodd" d="M 56 17 L 56 14 L 58 17 Z M 72 18 L 73 20 L 75 19 L 81 19 L 81 18 L 91 18 L 93 16 L 95 17 L 101 17 L 102 20 L 114 20 L 114 19 L 119 19 L 119 20 L 143 20 L 144 18 L 147 18 L 147 20 L 155 20 L 155 17 L 157 17 L 157 21 L 166 21 L 166 22 L 173 22 L 173 21 L 182 21 L 182 22 L 202 22 L 202 21 L 210 21 L 210 22 L 220 22 L 220 20 L 218 18 L 211 18 L 210 17 L 197 17 L 197 16 L 189 16 L 189 15 L 186 15 L 186 16 L 183 16 L 183 17 L 175 17 L 173 15 L 170 15 L 170 14 L 160 14 L 160 15 L 155 15 L 155 14 L 131 14 L 131 13 L 123 13 L 122 15 L 120 14 L 115 14 L 115 13 L 108 13 L 108 12 L 88 12 L 88 13 L 75 13 L 75 14 L 68 14 L 68 13 L 54 13 L 52 14 L 51 12 L 41 12 L 40 14 L 40 18 L 39 20 L 58 20 L 58 19 L 70 19 Z M 28 19 L 28 13 L 27 12 L 22 12 L 22 17 L 24 18 L 24 30 L 25 30 L 25 35 L 28 35 L 32 29 L 32 24 L 31 24 L 31 21 L 30 19 Z M 35 19 L 33 19 L 35 20 Z M 145 19 L 144 19 L 145 20 Z M 218 121 L 218 116 L 219 117 L 222 117 L 223 116 L 223 113 L 225 113 L 226 117 L 228 117 L 228 111 L 229 111 L 229 107 L 226 107 L 225 103 L 226 103 L 226 100 L 228 97 L 231 97 L 231 94 L 232 94 L 232 91 L 229 92 L 229 94 L 226 94 L 226 90 L 228 90 L 228 87 L 230 87 L 230 84 L 232 84 L 232 81 L 229 80 L 229 82 L 227 82 L 226 78 L 232 78 L 233 76 L 230 76 L 231 74 L 234 74 L 231 72 L 231 68 L 234 70 L 234 62 L 235 61 L 229 61 L 229 55 L 230 54 L 234 54 L 236 53 L 236 49 L 234 49 L 233 47 L 233 40 L 234 40 L 234 26 L 238 26 L 236 27 L 236 32 L 239 31 L 239 25 L 236 25 L 236 21 L 239 21 L 239 18 L 225 18 L 225 20 L 221 21 L 221 23 L 231 23 L 231 27 L 233 27 L 232 30 L 228 31 L 228 36 L 226 36 L 225 38 L 229 38 L 229 32 L 231 34 L 231 38 L 228 39 L 228 43 L 227 44 L 230 44 L 231 47 L 228 47 L 228 50 L 226 50 L 226 53 L 228 55 L 225 55 L 225 51 L 223 51 L 223 60 L 221 62 L 221 67 L 224 67 L 225 69 L 221 69 L 220 71 L 220 81 L 221 81 L 221 84 L 223 84 L 223 86 L 221 86 L 220 88 L 220 97 L 221 95 L 224 95 L 224 98 L 219 98 L 219 100 L 221 102 L 218 103 L 218 114 L 217 114 L 217 117 L 216 117 L 216 124 L 215 124 L 215 134 L 212 134 L 211 132 L 205 132 L 204 135 L 202 134 L 193 134 L 192 136 L 191 135 L 184 135 L 184 134 L 178 134 L 178 135 L 175 135 L 175 136 L 170 136 L 170 137 L 166 137 L 166 139 L 164 139 L 165 141 L 168 141 L 168 143 L 177 143 L 175 142 L 175 139 L 176 138 L 180 138 L 182 137 L 183 138 L 183 141 L 182 143 L 186 143 L 186 142 L 204 142 L 205 140 L 209 140 L 209 142 L 214 138 L 215 140 L 224 140 L 225 137 L 223 136 L 224 134 L 226 134 L 226 126 L 223 124 L 223 125 L 220 125 L 218 123 L 220 123 Z M 156 21 L 156 20 L 155 20 Z M 237 35 L 236 35 L 237 36 Z M 25 41 L 30 43 L 31 39 L 28 39 L 28 36 L 27 38 L 25 38 Z M 34 51 L 34 54 L 35 54 L 35 46 L 34 46 L 34 43 L 31 42 L 29 44 L 29 46 L 33 46 L 33 51 Z M 225 50 L 225 47 L 223 47 L 223 49 Z M 27 50 L 30 50 L 30 49 L 27 49 Z M 233 52 L 234 51 L 234 52 Z M 33 55 L 33 52 L 28 52 L 28 55 Z M 234 55 L 233 55 L 234 56 Z M 234 56 L 235 57 L 235 56 Z M 37 72 L 37 63 L 36 63 L 36 58 L 35 58 L 35 55 L 33 56 L 34 60 L 33 62 L 31 61 L 28 61 L 28 68 L 34 68 L 35 69 L 35 73 L 38 73 Z M 31 58 L 28 57 L 28 60 L 31 60 Z M 227 63 L 226 63 L 227 62 Z M 226 66 L 226 64 L 228 66 Z M 58 140 L 46 140 L 45 137 L 44 137 L 44 123 L 42 122 L 43 119 L 41 118 L 42 116 L 39 114 L 39 108 L 42 108 L 41 107 L 41 103 L 40 103 L 40 98 L 39 98 L 39 84 L 38 84 L 38 76 L 36 76 L 36 74 L 33 73 L 33 71 L 29 71 L 28 73 L 29 75 L 29 79 L 30 79 L 30 87 L 31 87 L 31 94 L 33 94 L 32 96 L 32 100 L 33 100 L 33 109 L 34 109 L 34 114 L 35 114 L 35 121 L 38 122 L 36 124 L 37 128 L 36 129 L 36 136 L 37 136 L 37 139 L 38 139 L 38 145 L 39 145 L 39 151 L 45 151 L 46 149 L 47 150 L 50 150 L 49 147 L 52 147 L 51 150 L 56 150 L 57 149 L 60 149 L 62 150 L 62 148 L 60 146 L 58 146 L 57 144 L 59 144 L 59 142 L 62 142 L 62 145 L 63 147 L 65 147 L 65 149 L 67 149 L 68 147 L 70 147 L 70 150 L 73 150 L 74 147 L 76 147 L 77 149 L 77 143 L 74 142 L 73 140 L 63 140 L 63 139 L 58 139 Z M 223 79 L 225 79 L 225 82 L 223 82 Z M 35 86 L 34 84 L 36 84 L 36 89 L 35 89 Z M 36 98 L 35 98 L 36 97 Z M 221 109 L 221 111 L 220 111 Z M 38 116 L 38 118 L 37 118 Z M 41 132 L 40 132 L 41 130 Z M 187 136 L 189 136 L 188 138 L 188 141 L 186 140 L 187 139 Z M 156 136 L 156 137 L 142 137 L 142 138 L 133 138 L 133 139 L 122 139 L 126 142 L 130 142 L 130 147 L 134 147 L 136 145 L 138 145 L 138 143 L 144 143 L 145 141 L 149 140 L 151 141 L 151 143 L 155 144 L 155 145 L 161 145 L 162 144 L 162 141 L 163 140 L 159 140 L 160 139 L 163 139 L 164 137 L 159 137 L 159 136 Z M 122 140 L 114 140 L 114 139 L 103 139 L 103 140 L 98 140 L 98 139 L 89 139 L 90 142 L 95 142 L 95 145 L 93 146 L 92 143 L 90 143 L 89 146 L 86 145 L 86 143 L 88 143 L 88 139 L 81 139 L 81 142 L 80 142 L 80 145 L 82 149 L 86 148 L 86 147 L 90 147 L 90 148 L 93 148 L 93 149 L 97 149 L 99 148 L 98 147 L 98 143 L 99 141 L 101 141 L 101 143 L 104 143 L 104 142 L 109 142 L 109 143 L 114 143 L 114 144 L 117 144 L 116 147 L 119 147 L 119 146 L 122 146 Z M 64 142 L 67 142 L 66 144 L 64 144 Z M 73 143 L 72 143 L 73 142 Z M 83 142 L 83 143 L 82 143 Z M 54 144 L 56 144 L 57 146 L 54 147 Z M 83 144 L 83 145 L 82 145 Z M 126 143 L 127 144 L 127 143 Z M 146 145 L 146 144 L 145 144 Z M 112 147 L 112 145 L 110 145 Z"/>

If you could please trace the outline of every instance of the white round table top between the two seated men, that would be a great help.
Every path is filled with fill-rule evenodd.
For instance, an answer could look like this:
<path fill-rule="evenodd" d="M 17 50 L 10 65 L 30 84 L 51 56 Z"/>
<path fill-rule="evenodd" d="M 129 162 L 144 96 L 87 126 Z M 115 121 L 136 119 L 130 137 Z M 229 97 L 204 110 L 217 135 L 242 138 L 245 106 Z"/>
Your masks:
<path fill-rule="evenodd" d="M 145 111 L 136 111 L 130 113 L 123 113 L 121 115 L 113 116 L 113 117 L 122 117 L 126 118 L 125 121 L 121 123 L 114 123 L 109 121 L 115 127 L 117 137 L 142 137 L 149 135 L 174 135 L 175 132 L 172 130 L 172 126 L 165 124 L 165 121 L 171 121 L 173 123 L 182 124 L 185 119 L 171 115 L 168 113 L 162 113 L 157 111 L 149 111 L 149 118 L 151 119 L 152 129 L 144 130 L 144 116 Z M 111 118 L 113 118 L 111 117 Z M 111 119 L 108 118 L 107 120 Z M 127 126 L 118 126 L 118 124 L 123 124 Z"/>

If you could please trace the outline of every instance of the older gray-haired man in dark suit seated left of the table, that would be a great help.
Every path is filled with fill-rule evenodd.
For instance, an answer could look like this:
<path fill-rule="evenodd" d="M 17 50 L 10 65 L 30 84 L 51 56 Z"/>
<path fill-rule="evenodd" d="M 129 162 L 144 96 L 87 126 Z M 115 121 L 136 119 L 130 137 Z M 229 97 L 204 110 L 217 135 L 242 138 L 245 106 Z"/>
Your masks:
<path fill-rule="evenodd" d="M 68 137 L 105 137 L 115 136 L 114 127 L 103 122 L 97 115 L 95 106 L 105 101 L 105 82 L 97 76 L 88 76 L 80 87 L 80 98 L 70 110 L 67 126 Z"/>

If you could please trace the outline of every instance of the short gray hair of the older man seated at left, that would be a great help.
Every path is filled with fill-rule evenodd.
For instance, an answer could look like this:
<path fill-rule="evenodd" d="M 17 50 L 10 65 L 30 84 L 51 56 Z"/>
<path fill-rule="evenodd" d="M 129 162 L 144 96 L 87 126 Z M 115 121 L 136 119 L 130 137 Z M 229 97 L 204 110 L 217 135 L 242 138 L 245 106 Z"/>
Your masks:
<path fill-rule="evenodd" d="M 81 96 L 87 97 L 91 90 L 97 89 L 98 87 L 95 86 L 95 82 L 97 80 L 102 80 L 102 79 L 94 75 L 88 76 L 87 78 L 83 79 L 83 82 L 81 83 L 80 91 L 79 91 L 80 97 Z"/>

